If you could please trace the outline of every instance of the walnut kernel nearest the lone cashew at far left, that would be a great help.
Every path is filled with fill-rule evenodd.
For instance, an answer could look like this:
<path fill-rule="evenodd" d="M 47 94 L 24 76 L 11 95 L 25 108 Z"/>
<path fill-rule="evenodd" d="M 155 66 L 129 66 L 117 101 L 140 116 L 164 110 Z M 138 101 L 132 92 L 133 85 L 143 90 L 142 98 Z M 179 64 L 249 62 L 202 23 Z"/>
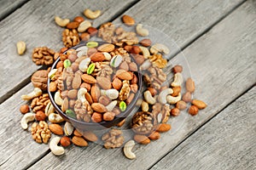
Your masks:
<path fill-rule="evenodd" d="M 54 62 L 54 55 L 54 50 L 50 48 L 34 48 L 32 53 L 32 61 L 36 63 L 36 65 L 51 65 Z"/>

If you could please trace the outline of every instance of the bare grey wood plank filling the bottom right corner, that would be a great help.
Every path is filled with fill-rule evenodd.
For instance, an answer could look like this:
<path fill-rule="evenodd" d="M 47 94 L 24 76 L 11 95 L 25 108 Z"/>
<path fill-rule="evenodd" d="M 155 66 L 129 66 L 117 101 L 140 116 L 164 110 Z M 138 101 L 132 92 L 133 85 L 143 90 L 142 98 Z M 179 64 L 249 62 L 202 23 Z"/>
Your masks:
<path fill-rule="evenodd" d="M 255 101 L 256 87 L 220 112 L 152 169 L 255 169 Z"/>

